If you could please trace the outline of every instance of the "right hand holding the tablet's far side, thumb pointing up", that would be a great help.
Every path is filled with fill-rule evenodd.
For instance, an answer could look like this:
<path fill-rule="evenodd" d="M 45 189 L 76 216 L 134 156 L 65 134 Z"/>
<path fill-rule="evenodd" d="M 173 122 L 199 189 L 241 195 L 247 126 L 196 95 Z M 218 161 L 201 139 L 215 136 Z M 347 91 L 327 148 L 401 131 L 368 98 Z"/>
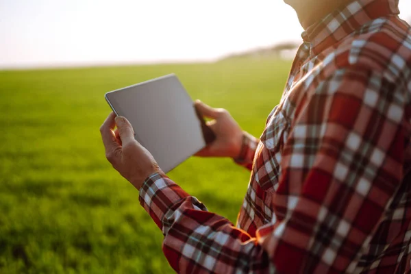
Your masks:
<path fill-rule="evenodd" d="M 216 140 L 195 155 L 237 158 L 242 146 L 243 132 L 229 112 L 223 108 L 211 108 L 199 100 L 195 101 L 195 108 L 202 116 L 214 119 L 208 121 L 207 125 L 216 134 Z"/>

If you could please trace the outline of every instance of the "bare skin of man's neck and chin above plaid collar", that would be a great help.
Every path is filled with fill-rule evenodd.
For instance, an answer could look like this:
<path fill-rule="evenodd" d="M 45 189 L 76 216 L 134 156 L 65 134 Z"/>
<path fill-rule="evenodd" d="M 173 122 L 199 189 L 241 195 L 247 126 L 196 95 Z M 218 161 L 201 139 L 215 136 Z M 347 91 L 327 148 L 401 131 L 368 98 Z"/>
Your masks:
<path fill-rule="evenodd" d="M 297 16 L 304 29 L 310 27 L 317 21 L 334 12 L 334 10 L 340 8 L 342 5 L 347 5 L 353 0 L 316 0 L 316 1 L 298 1 L 299 3 L 294 3 L 297 1 L 289 0 L 289 5 L 295 9 Z M 287 2 L 287 1 L 286 1 Z M 312 2 L 315 2 L 314 5 Z"/>

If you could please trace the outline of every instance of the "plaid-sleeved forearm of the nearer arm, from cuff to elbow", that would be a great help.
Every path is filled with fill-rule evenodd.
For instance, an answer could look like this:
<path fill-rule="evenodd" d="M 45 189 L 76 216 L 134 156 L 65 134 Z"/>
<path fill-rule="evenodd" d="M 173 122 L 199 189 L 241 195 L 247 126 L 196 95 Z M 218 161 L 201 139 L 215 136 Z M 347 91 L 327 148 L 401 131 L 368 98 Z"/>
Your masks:
<path fill-rule="evenodd" d="M 268 255 L 256 238 L 208 212 L 168 177 L 151 175 L 140 190 L 140 203 L 162 229 L 164 255 L 175 271 L 268 271 Z"/>

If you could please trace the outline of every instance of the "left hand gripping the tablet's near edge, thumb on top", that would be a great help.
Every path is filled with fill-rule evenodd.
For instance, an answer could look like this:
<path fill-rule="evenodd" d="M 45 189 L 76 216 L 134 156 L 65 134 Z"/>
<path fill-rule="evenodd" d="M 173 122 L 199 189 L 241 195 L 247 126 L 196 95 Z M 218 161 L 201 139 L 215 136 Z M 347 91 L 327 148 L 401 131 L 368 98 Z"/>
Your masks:
<path fill-rule="evenodd" d="M 114 127 L 117 129 L 114 131 Z M 121 176 L 138 190 L 153 173 L 162 173 L 153 155 L 134 139 L 132 125 L 124 117 L 110 113 L 100 127 L 105 157 Z"/>

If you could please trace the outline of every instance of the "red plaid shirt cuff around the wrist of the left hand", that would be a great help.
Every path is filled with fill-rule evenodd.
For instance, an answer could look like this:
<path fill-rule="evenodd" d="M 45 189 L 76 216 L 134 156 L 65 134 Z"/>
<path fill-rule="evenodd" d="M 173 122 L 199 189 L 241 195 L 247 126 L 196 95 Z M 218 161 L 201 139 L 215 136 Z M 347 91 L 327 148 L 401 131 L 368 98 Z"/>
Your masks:
<path fill-rule="evenodd" d="M 151 219 L 164 233 L 166 227 L 170 225 L 164 216 L 170 215 L 187 198 L 192 198 L 191 201 L 194 208 L 207 210 L 201 202 L 195 199 L 195 197 L 188 195 L 169 177 L 162 173 L 153 173 L 145 179 L 144 184 L 140 188 L 138 200 L 140 205 L 149 213 Z"/>

